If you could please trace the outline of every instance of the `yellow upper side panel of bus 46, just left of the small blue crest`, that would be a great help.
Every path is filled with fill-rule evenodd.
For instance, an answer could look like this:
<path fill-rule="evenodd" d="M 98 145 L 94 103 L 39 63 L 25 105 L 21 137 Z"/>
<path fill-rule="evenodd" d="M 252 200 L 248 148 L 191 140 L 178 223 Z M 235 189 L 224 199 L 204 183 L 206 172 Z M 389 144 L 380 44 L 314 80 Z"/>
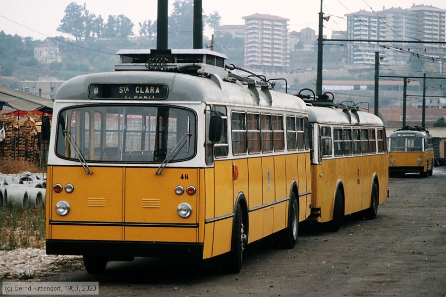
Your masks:
<path fill-rule="evenodd" d="M 248 208 L 254 208 L 263 204 L 262 202 L 262 158 L 249 158 L 248 159 L 248 171 L 249 171 L 249 195 Z M 250 214 L 251 216 L 251 214 Z M 251 222 L 251 217 L 249 218 Z M 249 224 L 250 229 L 252 224 Z M 251 236 L 251 230 L 249 230 Z"/>

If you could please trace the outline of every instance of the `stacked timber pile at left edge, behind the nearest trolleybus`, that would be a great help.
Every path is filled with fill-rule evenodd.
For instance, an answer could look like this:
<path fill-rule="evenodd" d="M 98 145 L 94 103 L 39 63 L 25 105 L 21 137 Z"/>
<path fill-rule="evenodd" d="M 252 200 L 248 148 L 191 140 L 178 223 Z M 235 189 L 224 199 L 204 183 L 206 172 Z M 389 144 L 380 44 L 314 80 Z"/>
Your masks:
<path fill-rule="evenodd" d="M 39 162 L 42 115 L 27 112 L 17 118 L 12 113 L 2 114 L 0 131 L 0 160 Z"/>

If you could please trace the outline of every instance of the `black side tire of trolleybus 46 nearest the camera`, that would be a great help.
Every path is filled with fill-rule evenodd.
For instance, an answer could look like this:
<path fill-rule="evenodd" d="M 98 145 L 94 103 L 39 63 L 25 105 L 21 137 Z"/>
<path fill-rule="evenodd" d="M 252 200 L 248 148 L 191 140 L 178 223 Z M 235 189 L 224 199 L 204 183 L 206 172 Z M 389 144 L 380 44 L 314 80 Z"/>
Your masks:
<path fill-rule="evenodd" d="M 228 273 L 239 273 L 244 261 L 244 249 L 247 242 L 243 225 L 243 211 L 237 206 L 232 227 L 231 251 L 223 259 L 223 268 Z"/>

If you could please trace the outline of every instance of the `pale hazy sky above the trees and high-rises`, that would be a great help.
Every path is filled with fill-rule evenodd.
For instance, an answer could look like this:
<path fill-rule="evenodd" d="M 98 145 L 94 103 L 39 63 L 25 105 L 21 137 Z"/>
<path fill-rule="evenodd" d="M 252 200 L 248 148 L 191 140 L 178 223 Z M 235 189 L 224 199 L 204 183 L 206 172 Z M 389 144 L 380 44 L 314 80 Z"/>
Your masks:
<path fill-rule="evenodd" d="M 157 0 L 0 0 L 0 31 L 34 39 L 60 36 L 56 28 L 71 2 L 86 3 L 90 13 L 102 15 L 105 21 L 109 15 L 124 14 L 135 25 L 135 34 L 139 22 L 157 18 Z M 169 0 L 170 9 L 173 2 Z M 409 8 L 413 3 L 446 9 L 445 0 L 324 0 L 324 13 L 332 15 L 325 22 L 324 34 L 330 36 L 332 30 L 346 30 L 346 13 L 361 9 L 379 11 L 383 6 Z M 222 25 L 244 24 L 243 16 L 261 13 L 288 18 L 290 31 L 305 27 L 317 31 L 320 5 L 320 0 L 203 0 L 204 13 L 218 11 Z M 211 34 L 204 32 L 207 36 Z"/>

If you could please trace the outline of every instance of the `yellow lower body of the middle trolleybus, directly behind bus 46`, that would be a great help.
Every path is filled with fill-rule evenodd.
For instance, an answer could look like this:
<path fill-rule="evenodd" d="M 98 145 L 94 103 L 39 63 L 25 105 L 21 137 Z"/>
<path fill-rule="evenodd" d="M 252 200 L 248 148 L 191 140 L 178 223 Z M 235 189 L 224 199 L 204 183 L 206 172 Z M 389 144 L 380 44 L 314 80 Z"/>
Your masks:
<path fill-rule="evenodd" d="M 343 189 L 344 214 L 370 207 L 373 178 L 379 177 L 379 204 L 388 198 L 388 172 L 383 164 L 387 154 L 372 154 L 323 159 L 311 165 L 313 176 L 312 207 L 320 208 L 319 222 L 333 219 L 336 190 Z"/>

